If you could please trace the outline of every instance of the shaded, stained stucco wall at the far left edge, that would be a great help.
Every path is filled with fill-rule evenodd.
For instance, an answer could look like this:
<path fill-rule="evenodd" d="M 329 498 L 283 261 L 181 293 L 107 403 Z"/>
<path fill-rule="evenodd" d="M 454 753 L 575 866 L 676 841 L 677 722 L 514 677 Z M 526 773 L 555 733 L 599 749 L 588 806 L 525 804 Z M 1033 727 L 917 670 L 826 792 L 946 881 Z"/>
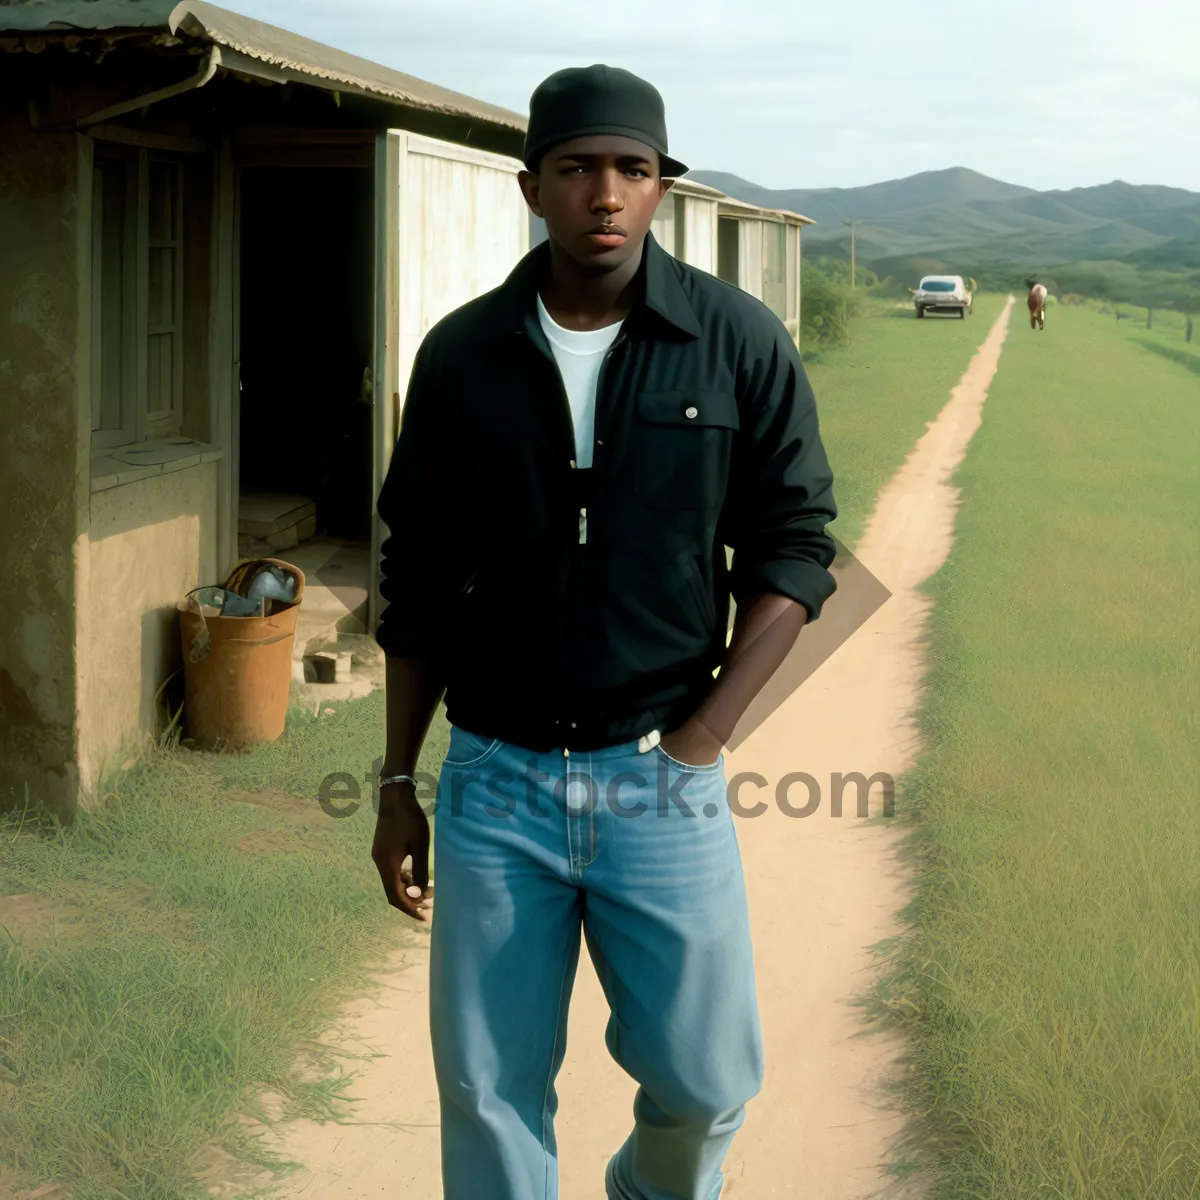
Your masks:
<path fill-rule="evenodd" d="M 0 96 L 0 809 L 70 812 L 79 470 L 74 134 Z"/>

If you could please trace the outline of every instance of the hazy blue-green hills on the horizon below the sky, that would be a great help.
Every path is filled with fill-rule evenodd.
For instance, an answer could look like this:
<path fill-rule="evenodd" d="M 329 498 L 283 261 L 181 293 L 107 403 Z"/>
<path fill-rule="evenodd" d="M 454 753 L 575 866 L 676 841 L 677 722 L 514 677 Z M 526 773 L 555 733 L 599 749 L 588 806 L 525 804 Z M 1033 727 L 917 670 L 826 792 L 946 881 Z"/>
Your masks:
<path fill-rule="evenodd" d="M 964 167 L 847 188 L 772 190 L 706 170 L 688 178 L 812 217 L 804 240 L 817 254 L 848 254 L 844 222 L 853 217 L 858 260 L 876 270 L 918 260 L 964 263 L 973 274 L 979 264 L 1040 270 L 1082 262 L 1177 270 L 1200 259 L 1200 193 L 1175 187 L 1116 180 L 1038 192 Z"/>

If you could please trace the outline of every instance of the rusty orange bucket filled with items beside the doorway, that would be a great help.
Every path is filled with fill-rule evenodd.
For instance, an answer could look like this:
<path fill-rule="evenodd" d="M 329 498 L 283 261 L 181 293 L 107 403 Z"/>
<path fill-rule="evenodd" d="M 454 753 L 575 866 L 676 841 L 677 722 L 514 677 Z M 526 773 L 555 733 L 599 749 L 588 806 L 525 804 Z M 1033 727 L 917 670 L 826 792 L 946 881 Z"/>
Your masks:
<path fill-rule="evenodd" d="M 253 559 L 239 563 L 224 587 L 240 590 L 263 564 L 296 576 L 294 600 L 268 601 L 262 617 L 222 617 L 200 601 L 197 593 L 208 589 L 198 588 L 178 605 L 184 716 L 187 736 L 202 749 L 241 750 L 274 742 L 283 732 L 304 574 L 282 559 Z"/>

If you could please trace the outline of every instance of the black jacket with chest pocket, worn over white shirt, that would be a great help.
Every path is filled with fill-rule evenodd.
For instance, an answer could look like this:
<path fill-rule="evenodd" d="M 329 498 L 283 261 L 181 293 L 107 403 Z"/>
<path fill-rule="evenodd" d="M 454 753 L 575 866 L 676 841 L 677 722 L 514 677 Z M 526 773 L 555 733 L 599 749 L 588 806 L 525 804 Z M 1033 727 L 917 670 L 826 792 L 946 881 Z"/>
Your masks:
<path fill-rule="evenodd" d="M 452 724 L 588 750 L 688 719 L 731 594 L 781 593 L 815 619 L 838 510 L 782 324 L 653 235 L 644 300 L 601 368 L 593 466 L 576 469 L 538 320 L 548 251 L 421 342 L 379 496 L 376 637 L 438 665 Z"/>

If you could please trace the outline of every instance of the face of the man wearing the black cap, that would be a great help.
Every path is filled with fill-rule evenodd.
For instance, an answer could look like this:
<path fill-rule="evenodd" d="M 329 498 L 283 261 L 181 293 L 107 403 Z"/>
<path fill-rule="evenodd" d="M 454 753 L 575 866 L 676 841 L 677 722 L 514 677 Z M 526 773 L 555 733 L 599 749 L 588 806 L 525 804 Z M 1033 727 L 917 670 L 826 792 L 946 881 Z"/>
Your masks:
<path fill-rule="evenodd" d="M 670 182 L 656 150 L 632 138 L 575 138 L 552 146 L 521 191 L 546 232 L 584 266 L 611 271 L 637 253 Z"/>

